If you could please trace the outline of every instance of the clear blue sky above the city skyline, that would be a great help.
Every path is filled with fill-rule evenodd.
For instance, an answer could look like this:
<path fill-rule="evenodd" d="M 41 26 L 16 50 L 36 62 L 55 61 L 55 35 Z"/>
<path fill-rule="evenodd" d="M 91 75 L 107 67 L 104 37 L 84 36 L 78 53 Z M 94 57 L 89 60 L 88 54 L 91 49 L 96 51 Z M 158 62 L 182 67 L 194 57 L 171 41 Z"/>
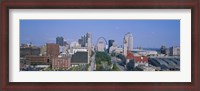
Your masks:
<path fill-rule="evenodd" d="M 124 35 L 130 32 L 134 48 L 180 46 L 180 20 L 20 20 L 21 44 L 55 43 L 58 36 L 70 43 L 87 32 L 92 34 L 93 44 L 104 37 L 121 46 Z"/>

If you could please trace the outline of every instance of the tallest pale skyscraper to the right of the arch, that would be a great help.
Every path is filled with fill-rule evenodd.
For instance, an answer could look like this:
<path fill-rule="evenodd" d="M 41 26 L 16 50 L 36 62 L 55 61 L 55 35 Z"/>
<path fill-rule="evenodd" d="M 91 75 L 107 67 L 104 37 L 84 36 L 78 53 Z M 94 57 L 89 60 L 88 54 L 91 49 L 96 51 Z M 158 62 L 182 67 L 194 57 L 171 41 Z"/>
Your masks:
<path fill-rule="evenodd" d="M 127 56 L 127 51 L 133 50 L 133 35 L 128 32 L 124 36 L 124 55 Z"/>

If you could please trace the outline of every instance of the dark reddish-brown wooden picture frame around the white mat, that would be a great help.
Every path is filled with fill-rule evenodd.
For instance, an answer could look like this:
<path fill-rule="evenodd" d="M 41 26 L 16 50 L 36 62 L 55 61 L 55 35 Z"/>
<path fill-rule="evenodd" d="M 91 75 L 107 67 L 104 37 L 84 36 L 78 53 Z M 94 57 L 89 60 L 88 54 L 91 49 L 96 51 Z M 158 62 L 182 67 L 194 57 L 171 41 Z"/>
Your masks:
<path fill-rule="evenodd" d="M 11 90 L 179 90 L 199 91 L 199 1 L 2 1 L 1 2 L 1 89 Z M 191 9 L 191 82 L 9 82 L 9 9 Z"/>

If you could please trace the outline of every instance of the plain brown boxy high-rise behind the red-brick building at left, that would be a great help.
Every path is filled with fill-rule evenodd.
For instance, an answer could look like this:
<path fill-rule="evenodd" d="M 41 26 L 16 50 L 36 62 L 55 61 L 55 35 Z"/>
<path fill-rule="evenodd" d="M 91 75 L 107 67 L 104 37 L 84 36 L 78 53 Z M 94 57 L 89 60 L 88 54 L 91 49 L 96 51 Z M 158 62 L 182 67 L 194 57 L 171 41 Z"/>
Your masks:
<path fill-rule="evenodd" d="M 59 45 L 55 43 L 47 43 L 46 44 L 47 48 L 47 56 L 50 57 L 58 57 L 59 55 Z"/>

